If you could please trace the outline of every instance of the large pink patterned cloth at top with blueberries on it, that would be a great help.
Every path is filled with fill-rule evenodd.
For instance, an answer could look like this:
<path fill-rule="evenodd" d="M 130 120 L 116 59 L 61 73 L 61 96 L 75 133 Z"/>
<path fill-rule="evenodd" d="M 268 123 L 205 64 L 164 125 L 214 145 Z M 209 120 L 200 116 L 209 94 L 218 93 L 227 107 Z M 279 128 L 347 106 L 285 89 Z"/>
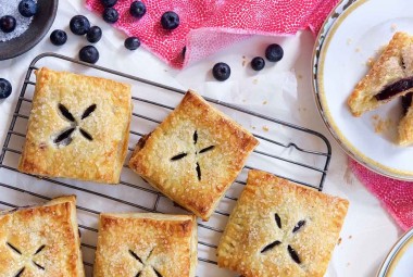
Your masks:
<path fill-rule="evenodd" d="M 115 27 L 140 38 L 143 47 L 174 67 L 197 62 L 250 35 L 293 35 L 310 28 L 317 33 L 338 0 L 142 0 L 147 14 L 129 15 L 134 0 L 120 0 Z M 101 13 L 100 0 L 86 0 Z M 166 11 L 179 15 L 180 25 L 164 30 L 160 18 Z M 187 47 L 185 61 L 182 55 Z"/>

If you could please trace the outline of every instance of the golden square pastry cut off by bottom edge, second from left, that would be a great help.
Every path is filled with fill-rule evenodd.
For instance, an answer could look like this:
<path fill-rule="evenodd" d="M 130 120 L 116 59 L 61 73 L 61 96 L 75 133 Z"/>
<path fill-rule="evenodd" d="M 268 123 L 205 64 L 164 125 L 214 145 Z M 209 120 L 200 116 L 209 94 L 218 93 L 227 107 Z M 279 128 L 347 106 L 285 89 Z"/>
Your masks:
<path fill-rule="evenodd" d="M 193 277 L 197 218 L 190 215 L 101 214 L 95 277 Z"/>

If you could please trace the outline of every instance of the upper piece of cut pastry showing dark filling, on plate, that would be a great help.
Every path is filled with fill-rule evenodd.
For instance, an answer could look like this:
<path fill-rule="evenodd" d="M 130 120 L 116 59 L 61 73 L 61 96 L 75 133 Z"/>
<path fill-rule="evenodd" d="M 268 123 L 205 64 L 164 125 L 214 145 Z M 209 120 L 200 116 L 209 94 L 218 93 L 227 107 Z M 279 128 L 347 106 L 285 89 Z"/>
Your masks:
<path fill-rule="evenodd" d="M 413 37 L 396 33 L 348 99 L 354 116 L 413 91 Z"/>

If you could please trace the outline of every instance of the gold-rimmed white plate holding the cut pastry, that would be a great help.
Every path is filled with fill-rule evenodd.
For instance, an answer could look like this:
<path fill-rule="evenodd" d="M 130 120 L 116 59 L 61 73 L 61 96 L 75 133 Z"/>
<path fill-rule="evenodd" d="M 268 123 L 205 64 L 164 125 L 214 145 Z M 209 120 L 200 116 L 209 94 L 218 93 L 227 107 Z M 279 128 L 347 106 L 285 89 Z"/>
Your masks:
<path fill-rule="evenodd" d="M 413 35 L 411 0 L 346 0 L 326 21 L 314 50 L 314 91 L 333 136 L 352 158 L 393 178 L 413 180 L 413 147 L 398 147 L 400 100 L 353 117 L 347 99 L 367 61 L 398 32 Z M 383 133 L 376 133 L 381 122 Z"/>

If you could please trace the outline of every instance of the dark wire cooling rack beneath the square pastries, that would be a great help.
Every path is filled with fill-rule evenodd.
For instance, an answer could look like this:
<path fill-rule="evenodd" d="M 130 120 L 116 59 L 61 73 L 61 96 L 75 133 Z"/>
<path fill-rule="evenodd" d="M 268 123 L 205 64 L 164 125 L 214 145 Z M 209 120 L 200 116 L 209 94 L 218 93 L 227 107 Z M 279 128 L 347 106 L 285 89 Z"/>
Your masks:
<path fill-rule="evenodd" d="M 114 189 L 129 189 L 132 192 L 140 193 L 148 196 L 148 198 L 151 198 L 153 201 L 152 203 L 136 203 L 132 201 L 130 199 L 122 199 L 117 197 L 116 193 L 110 190 L 108 186 L 103 185 L 92 185 L 92 186 L 86 186 L 86 184 L 78 184 L 68 179 L 51 179 L 51 178 L 43 178 L 38 179 L 34 176 L 28 176 L 18 173 L 16 169 L 17 164 L 12 161 L 18 160 L 21 155 L 22 148 L 15 147 L 14 141 L 22 140 L 24 141 L 25 133 L 22 130 L 18 130 L 18 125 L 25 124 L 28 119 L 28 114 L 23 112 L 25 110 L 24 105 L 30 105 L 32 103 L 32 96 L 27 92 L 29 87 L 34 87 L 36 84 L 35 81 L 30 80 L 30 77 L 33 77 L 33 72 L 37 70 L 37 64 L 42 59 L 53 59 L 53 62 L 63 62 L 63 63 L 70 63 L 72 65 L 80 66 L 80 68 L 87 70 L 87 75 L 90 74 L 90 71 L 101 72 L 104 74 L 109 74 L 108 76 L 113 77 L 122 77 L 127 79 L 130 83 L 137 83 L 137 84 L 143 84 L 145 86 L 150 86 L 152 88 L 157 88 L 159 90 L 165 90 L 167 93 L 176 95 L 179 99 L 186 93 L 185 90 L 176 89 L 171 86 L 165 86 L 159 83 L 154 83 L 151 80 L 147 80 L 143 78 L 135 77 L 128 74 L 124 74 L 121 72 L 116 72 L 113 70 L 104 68 L 98 65 L 87 64 L 80 61 L 73 60 L 71 58 L 66 58 L 60 54 L 55 53 L 43 53 L 38 55 L 34 59 L 34 61 L 30 63 L 26 77 L 22 87 L 21 95 L 18 97 L 18 101 L 10 124 L 9 131 L 5 137 L 4 144 L 1 149 L 1 155 L 0 155 L 0 207 L 16 207 L 26 205 L 27 201 L 35 201 L 40 202 L 42 200 L 50 200 L 53 198 L 54 194 L 76 194 L 76 192 L 79 193 L 86 193 L 87 196 L 87 203 L 83 201 L 84 203 L 78 202 L 77 211 L 78 216 L 80 216 L 79 221 L 79 228 L 83 234 L 83 252 L 84 252 L 84 264 L 86 267 L 87 273 L 91 273 L 92 267 L 92 261 L 93 261 L 93 251 L 96 250 L 96 237 L 97 237 L 97 218 L 99 213 L 102 210 L 107 210 L 110 206 L 113 207 L 120 207 L 124 210 L 130 210 L 130 211 L 142 211 L 142 212 L 165 212 L 165 209 L 160 209 L 161 205 L 166 205 L 167 212 L 171 211 L 178 211 L 184 212 L 180 210 L 180 207 L 174 206 L 170 200 L 167 200 L 165 197 L 163 197 L 159 191 L 151 188 L 150 186 L 146 185 L 140 180 L 140 178 L 136 177 L 135 179 L 139 179 L 138 184 L 134 184 L 128 179 L 121 178 L 121 185 L 111 187 Z M 221 232 L 223 231 L 225 227 L 225 223 L 227 221 L 227 216 L 230 213 L 231 207 L 234 206 L 235 201 L 237 200 L 242 186 L 246 185 L 246 172 L 248 169 L 258 168 L 258 169 L 266 169 L 272 172 L 273 174 L 287 178 L 289 180 L 292 180 L 295 182 L 309 186 L 312 188 L 315 188 L 320 191 L 323 189 L 323 185 L 325 181 L 325 177 L 328 171 L 328 165 L 331 158 L 331 148 L 328 142 L 328 140 L 320 133 L 316 133 L 314 130 L 303 128 L 287 122 L 283 122 L 276 118 L 272 118 L 252 111 L 248 111 L 243 108 L 225 103 L 222 101 L 217 101 L 211 98 L 205 98 L 210 103 L 216 105 L 218 109 L 230 112 L 239 113 L 241 116 L 247 116 L 248 118 L 255 118 L 259 122 L 271 124 L 272 126 L 278 127 L 279 129 L 283 129 L 284 133 L 292 133 L 290 138 L 285 139 L 284 141 L 277 137 L 272 136 L 270 138 L 268 134 L 262 134 L 252 130 L 254 136 L 260 140 L 260 147 L 255 149 L 255 151 L 251 154 L 251 156 L 254 156 L 255 159 L 260 160 L 266 160 L 268 164 L 277 164 L 276 168 L 268 169 L 267 167 L 261 168 L 255 167 L 255 163 L 251 165 L 251 163 L 247 162 L 247 165 L 245 166 L 245 169 L 240 174 L 239 179 L 237 179 L 233 187 L 238 187 L 238 189 L 235 190 L 228 190 L 226 196 L 224 197 L 222 202 L 225 202 L 224 207 L 220 204 L 218 209 L 215 211 L 214 215 L 211 217 L 210 222 L 208 223 L 199 223 L 199 234 L 200 234 L 200 240 L 199 240 L 199 267 L 208 268 L 208 266 L 216 265 L 216 262 L 214 261 L 215 257 L 215 249 L 217 244 L 216 237 L 220 237 Z M 164 112 L 170 112 L 174 109 L 171 104 L 161 103 L 158 101 L 148 100 L 140 97 L 133 97 L 133 102 L 135 108 L 139 108 L 141 105 L 147 105 L 149 109 L 162 109 L 165 110 Z M 27 110 L 27 109 L 26 109 Z M 161 119 L 149 117 L 146 114 L 140 113 L 133 113 L 133 119 L 139 119 L 139 121 L 147 121 L 151 124 L 159 124 Z M 21 123 L 23 122 L 23 123 Z M 283 133 L 283 134 L 284 134 Z M 137 138 L 143 136 L 145 133 L 132 129 L 130 136 L 136 136 Z M 300 137 L 304 138 L 300 141 L 310 141 L 310 144 L 316 144 L 317 149 L 314 150 L 311 147 L 301 146 L 300 143 L 296 142 L 293 138 Z M 23 142 L 22 142 L 23 143 Z M 263 144 L 263 149 L 261 149 L 261 144 Z M 305 143 L 304 143 L 305 144 Z M 320 150 L 322 149 L 322 150 Z M 133 147 L 129 147 L 129 152 L 133 150 Z M 130 154 L 130 153 L 129 153 Z M 300 156 L 306 156 L 306 159 L 301 160 Z M 10 159 L 12 156 L 12 159 Z M 14 156 L 14 158 L 13 158 Z M 250 161 L 250 160 L 249 160 Z M 304 162 L 303 162 L 304 161 Z M 315 162 L 317 161 L 317 162 Z M 256 162 L 258 163 L 258 162 Z M 283 167 L 280 164 L 285 164 L 286 167 Z M 125 167 L 127 167 L 125 165 Z M 302 175 L 300 178 L 287 176 L 285 173 L 288 172 L 286 168 L 301 168 L 305 169 L 306 174 Z M 278 169 L 278 171 L 277 171 Z M 124 172 L 128 171 L 128 168 L 124 168 Z M 295 176 L 295 172 L 298 172 L 299 169 L 292 169 L 292 176 Z M 309 176 L 310 174 L 315 175 L 315 181 L 312 184 L 308 181 L 308 178 L 305 176 Z M 18 176 L 18 178 L 27 178 L 27 182 L 30 184 L 30 186 L 21 186 L 20 184 L 15 184 L 17 177 L 11 177 L 7 178 L 7 176 L 11 176 L 12 174 Z M 122 175 L 124 176 L 124 174 Z M 9 180 L 8 180 L 9 179 Z M 314 176 L 313 178 L 314 179 Z M 35 186 L 37 182 L 42 182 L 41 186 Z M 33 184 L 33 185 L 32 185 Z M 51 184 L 51 185 L 50 185 Z M 50 186 L 49 186 L 50 185 Z M 103 187 L 101 187 L 103 186 Z M 99 188 L 97 188 L 99 187 Z M 108 189 L 108 190 L 105 190 Z M 57 192 L 55 190 L 59 190 Z M 4 193 L 8 193 L 9 197 L 7 199 L 1 198 L 1 196 L 4 196 Z M 151 197 L 150 197 L 151 196 Z M 14 199 L 11 199 L 14 198 Z M 86 197 L 85 197 L 86 198 Z M 89 202 L 93 201 L 100 201 L 99 203 L 104 203 L 102 209 L 102 205 L 99 209 L 96 209 L 95 205 L 90 207 Z M 166 204 L 165 204 L 166 203 Z M 227 211 L 226 211 L 227 210 Z M 105 211 L 108 212 L 108 211 Z M 85 223 L 86 222 L 86 223 Z M 92 252 L 92 253 L 90 253 Z M 203 256 L 202 256 L 203 255 Z M 216 270 L 223 270 L 217 269 Z M 201 269 L 202 272 L 202 269 Z M 223 272 L 223 275 L 225 276 L 234 276 L 230 275 L 228 272 Z M 220 276 L 223 276 L 220 274 Z M 199 274 L 198 276 L 206 276 L 204 274 Z M 209 272 L 208 276 L 211 276 L 211 272 Z"/>

